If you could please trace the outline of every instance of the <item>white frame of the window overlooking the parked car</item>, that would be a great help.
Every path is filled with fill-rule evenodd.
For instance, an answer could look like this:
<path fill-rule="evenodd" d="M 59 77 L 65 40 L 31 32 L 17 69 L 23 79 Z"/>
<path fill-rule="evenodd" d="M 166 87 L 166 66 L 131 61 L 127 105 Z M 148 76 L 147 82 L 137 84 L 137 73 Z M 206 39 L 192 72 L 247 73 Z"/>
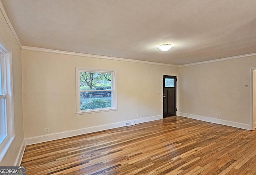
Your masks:
<path fill-rule="evenodd" d="M 80 107 L 80 72 L 94 72 L 94 73 L 111 73 L 112 79 L 112 107 L 110 108 L 96 108 L 90 110 L 81 110 Z M 88 114 L 94 112 L 106 112 L 117 110 L 117 97 L 116 97 L 116 70 L 105 70 L 105 69 L 86 69 L 82 67 L 76 67 L 76 115 Z"/>

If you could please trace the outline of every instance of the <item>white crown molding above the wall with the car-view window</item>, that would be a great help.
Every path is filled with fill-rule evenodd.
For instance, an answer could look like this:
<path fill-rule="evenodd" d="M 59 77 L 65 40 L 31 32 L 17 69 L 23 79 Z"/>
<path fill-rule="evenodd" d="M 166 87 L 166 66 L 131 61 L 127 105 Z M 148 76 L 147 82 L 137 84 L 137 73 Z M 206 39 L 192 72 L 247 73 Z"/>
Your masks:
<path fill-rule="evenodd" d="M 108 57 L 108 56 L 102 56 L 102 55 L 92 55 L 92 54 L 87 54 L 87 53 L 59 51 L 59 50 L 44 49 L 44 48 L 39 48 L 39 47 L 22 46 L 22 49 L 23 50 L 30 50 L 30 51 L 48 52 L 48 53 L 59 53 L 59 54 L 64 54 L 64 55 L 74 55 L 74 56 L 81 56 L 81 57 L 111 59 L 111 60 L 117 60 L 117 61 L 128 61 L 128 62 L 135 62 L 135 63 L 145 63 L 145 64 L 152 64 L 152 65 L 178 67 L 178 65 L 170 65 L 170 64 L 165 64 L 165 63 L 154 63 L 154 62 L 150 62 L 150 61 L 140 61 L 140 60 L 136 60 L 136 59 L 126 59 L 126 58 Z"/>

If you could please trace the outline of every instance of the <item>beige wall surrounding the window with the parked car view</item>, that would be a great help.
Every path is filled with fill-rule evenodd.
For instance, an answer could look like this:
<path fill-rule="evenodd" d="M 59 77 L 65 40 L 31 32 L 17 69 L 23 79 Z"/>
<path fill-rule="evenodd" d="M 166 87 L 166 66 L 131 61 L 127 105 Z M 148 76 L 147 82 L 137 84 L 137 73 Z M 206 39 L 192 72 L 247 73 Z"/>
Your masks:
<path fill-rule="evenodd" d="M 76 115 L 76 67 L 117 71 L 117 111 Z M 162 73 L 178 67 L 22 50 L 25 138 L 162 115 Z"/>

